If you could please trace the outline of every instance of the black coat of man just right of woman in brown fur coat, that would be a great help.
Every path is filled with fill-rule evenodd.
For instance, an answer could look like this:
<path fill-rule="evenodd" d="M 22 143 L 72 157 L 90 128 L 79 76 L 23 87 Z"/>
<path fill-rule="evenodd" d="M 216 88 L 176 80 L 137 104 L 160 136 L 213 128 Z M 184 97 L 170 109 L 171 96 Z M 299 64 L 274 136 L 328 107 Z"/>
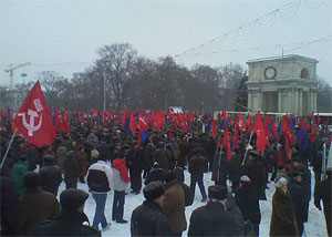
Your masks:
<path fill-rule="evenodd" d="M 304 223 L 305 219 L 305 197 L 303 189 L 295 179 L 290 179 L 288 182 L 288 190 L 292 197 L 293 206 L 295 210 L 297 221 Z"/>

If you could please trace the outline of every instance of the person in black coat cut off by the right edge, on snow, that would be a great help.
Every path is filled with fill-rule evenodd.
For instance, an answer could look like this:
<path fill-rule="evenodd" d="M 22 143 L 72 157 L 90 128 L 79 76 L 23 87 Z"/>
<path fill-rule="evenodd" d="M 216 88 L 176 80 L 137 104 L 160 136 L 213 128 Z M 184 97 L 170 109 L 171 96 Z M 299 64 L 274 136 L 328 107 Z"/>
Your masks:
<path fill-rule="evenodd" d="M 332 236 L 332 229 L 331 229 L 331 215 L 332 215 L 332 196 L 331 196 L 331 188 L 332 188 L 332 168 L 328 168 L 325 171 L 325 174 L 328 175 L 328 178 L 325 181 L 321 181 L 317 184 L 314 188 L 314 206 L 322 209 L 321 207 L 321 199 L 323 200 L 324 206 L 324 215 L 325 215 L 325 221 L 326 221 L 326 229 L 329 236 Z"/>

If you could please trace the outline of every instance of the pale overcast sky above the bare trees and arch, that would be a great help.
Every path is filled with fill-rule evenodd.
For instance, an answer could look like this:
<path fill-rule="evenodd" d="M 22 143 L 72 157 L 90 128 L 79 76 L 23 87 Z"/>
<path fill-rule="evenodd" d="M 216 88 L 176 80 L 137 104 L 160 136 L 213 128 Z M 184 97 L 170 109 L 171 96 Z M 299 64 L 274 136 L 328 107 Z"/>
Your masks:
<path fill-rule="evenodd" d="M 42 71 L 71 79 L 112 43 L 131 43 L 154 60 L 179 54 L 186 66 L 247 69 L 248 60 L 300 54 L 319 60 L 318 75 L 332 84 L 331 39 L 332 0 L 0 0 L 0 84 L 9 85 L 10 63 L 31 62 L 14 72 L 14 83 L 23 72 L 27 80 Z"/>

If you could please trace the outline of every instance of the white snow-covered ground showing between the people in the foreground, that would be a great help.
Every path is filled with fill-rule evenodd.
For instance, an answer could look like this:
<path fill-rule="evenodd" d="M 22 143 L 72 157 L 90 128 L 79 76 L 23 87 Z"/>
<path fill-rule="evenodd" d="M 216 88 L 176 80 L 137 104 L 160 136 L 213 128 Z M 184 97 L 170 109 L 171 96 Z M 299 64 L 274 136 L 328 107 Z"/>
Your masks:
<path fill-rule="evenodd" d="M 312 177 L 312 193 L 313 193 L 313 173 L 311 175 Z M 211 173 L 207 173 L 204 175 L 204 183 L 207 190 L 207 187 L 209 185 L 212 185 L 211 179 Z M 190 175 L 187 171 L 185 171 L 185 183 L 189 185 L 190 182 Z M 271 219 L 271 200 L 272 195 L 274 193 L 274 183 L 268 184 L 269 189 L 267 189 L 267 198 L 268 200 L 261 200 L 260 202 L 260 210 L 261 210 L 261 224 L 260 224 L 260 236 L 269 236 L 269 229 L 270 229 L 270 219 Z M 64 190 L 65 185 L 64 182 L 62 182 L 60 188 L 59 188 L 59 196 L 62 190 Z M 77 188 L 84 189 L 89 192 L 86 184 L 77 184 Z M 108 223 L 112 223 L 111 228 L 106 231 L 102 233 L 102 236 L 131 236 L 131 216 L 132 212 L 143 203 L 144 196 L 143 192 L 141 192 L 139 195 L 134 194 L 127 194 L 125 197 L 125 208 L 124 208 L 124 219 L 127 219 L 127 224 L 116 224 L 115 221 L 112 221 L 112 206 L 113 206 L 113 190 L 111 190 L 107 195 L 107 202 L 105 206 L 105 216 Z M 58 197 L 59 197 L 58 196 Z M 189 227 L 189 219 L 191 212 L 196 209 L 197 207 L 203 206 L 204 204 L 200 202 L 201 196 L 198 188 L 198 185 L 196 185 L 196 192 L 195 192 L 195 200 L 194 204 L 189 207 L 186 207 L 186 217 L 187 223 Z M 90 223 L 92 225 L 94 212 L 95 212 L 95 202 L 93 197 L 90 195 L 89 199 L 85 203 L 84 208 L 85 214 L 87 215 Z M 313 198 L 310 202 L 310 209 L 309 209 L 309 220 L 304 224 L 305 233 L 303 233 L 303 236 L 328 236 L 326 228 L 325 228 L 325 219 L 323 212 L 320 212 L 313 205 Z M 187 230 L 183 233 L 183 236 L 187 236 Z"/>

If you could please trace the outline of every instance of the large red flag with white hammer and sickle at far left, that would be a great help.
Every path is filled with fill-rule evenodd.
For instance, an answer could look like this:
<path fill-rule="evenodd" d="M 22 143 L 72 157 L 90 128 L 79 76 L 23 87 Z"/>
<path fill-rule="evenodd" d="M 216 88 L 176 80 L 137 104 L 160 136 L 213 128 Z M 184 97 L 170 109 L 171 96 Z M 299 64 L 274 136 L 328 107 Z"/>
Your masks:
<path fill-rule="evenodd" d="M 18 110 L 12 128 L 38 147 L 54 142 L 56 134 L 39 81 Z"/>

